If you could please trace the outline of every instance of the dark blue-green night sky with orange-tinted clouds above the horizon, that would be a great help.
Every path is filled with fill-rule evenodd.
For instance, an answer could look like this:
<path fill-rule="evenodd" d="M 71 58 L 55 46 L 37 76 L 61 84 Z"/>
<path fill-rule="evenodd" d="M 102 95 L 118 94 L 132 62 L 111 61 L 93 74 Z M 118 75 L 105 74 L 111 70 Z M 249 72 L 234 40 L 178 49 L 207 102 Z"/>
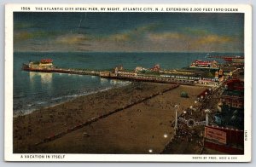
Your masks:
<path fill-rule="evenodd" d="M 243 14 L 20 13 L 15 51 L 243 52 Z"/>

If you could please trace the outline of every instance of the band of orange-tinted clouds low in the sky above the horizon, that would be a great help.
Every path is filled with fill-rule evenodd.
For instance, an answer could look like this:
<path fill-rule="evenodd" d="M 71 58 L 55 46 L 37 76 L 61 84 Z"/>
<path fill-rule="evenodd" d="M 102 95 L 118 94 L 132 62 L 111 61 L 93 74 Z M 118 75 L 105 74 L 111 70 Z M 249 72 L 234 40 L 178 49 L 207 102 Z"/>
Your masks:
<path fill-rule="evenodd" d="M 112 34 L 74 32 L 15 32 L 15 50 L 57 51 L 234 51 L 242 50 L 238 37 L 209 33 L 203 29 L 160 32 L 158 24 L 137 26 Z"/>

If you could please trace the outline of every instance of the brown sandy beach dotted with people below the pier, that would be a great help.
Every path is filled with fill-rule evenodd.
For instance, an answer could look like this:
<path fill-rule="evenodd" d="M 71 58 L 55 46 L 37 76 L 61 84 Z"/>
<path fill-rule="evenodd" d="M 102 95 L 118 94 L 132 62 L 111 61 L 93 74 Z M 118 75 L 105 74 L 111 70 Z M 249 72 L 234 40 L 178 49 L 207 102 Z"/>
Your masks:
<path fill-rule="evenodd" d="M 182 111 L 206 89 L 174 86 L 131 83 L 14 118 L 14 153 L 160 153 L 173 136 L 174 106 Z M 180 97 L 182 91 L 189 98 Z M 108 116 L 95 119 L 102 115 Z M 36 145 L 63 131 L 67 133 Z"/>

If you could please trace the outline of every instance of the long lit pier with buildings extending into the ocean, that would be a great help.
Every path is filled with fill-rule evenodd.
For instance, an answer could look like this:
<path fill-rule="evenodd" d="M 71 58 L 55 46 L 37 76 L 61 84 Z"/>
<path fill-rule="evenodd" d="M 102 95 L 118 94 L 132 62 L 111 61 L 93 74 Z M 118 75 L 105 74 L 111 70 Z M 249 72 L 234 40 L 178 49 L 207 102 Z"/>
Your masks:
<path fill-rule="evenodd" d="M 57 72 L 130 81 L 175 83 L 210 87 L 218 86 L 226 78 L 232 77 L 234 73 L 237 73 L 236 68 L 225 69 L 225 71 L 222 68 L 224 68 L 224 66 L 220 66 L 215 60 L 195 60 L 192 62 L 191 66 L 187 68 L 171 70 L 161 69 L 159 64 L 154 65 L 152 68 L 137 66 L 135 70 L 125 70 L 123 66 L 116 66 L 113 70 L 106 71 L 58 68 L 53 66 L 53 60 L 51 59 L 44 59 L 40 62 L 29 62 L 29 64 L 23 64 L 22 66 L 22 70 L 27 72 Z M 225 75 L 224 72 L 226 73 Z"/>

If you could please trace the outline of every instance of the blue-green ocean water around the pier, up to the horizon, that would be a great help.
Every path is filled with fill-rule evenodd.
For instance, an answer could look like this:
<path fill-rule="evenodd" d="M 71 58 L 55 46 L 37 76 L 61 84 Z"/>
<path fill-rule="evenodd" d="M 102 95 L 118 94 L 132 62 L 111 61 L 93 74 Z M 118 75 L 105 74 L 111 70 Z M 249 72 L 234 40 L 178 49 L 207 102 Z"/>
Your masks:
<path fill-rule="evenodd" d="M 14 53 L 14 115 L 26 114 L 41 107 L 50 107 L 69 101 L 79 95 L 113 89 L 131 82 L 102 79 L 61 73 L 24 72 L 22 63 L 29 60 L 52 59 L 54 65 L 63 68 L 109 70 L 123 65 L 125 69 L 136 66 L 175 69 L 189 66 L 193 60 L 207 60 L 207 53 Z M 214 53 L 212 55 L 243 55 Z"/>

